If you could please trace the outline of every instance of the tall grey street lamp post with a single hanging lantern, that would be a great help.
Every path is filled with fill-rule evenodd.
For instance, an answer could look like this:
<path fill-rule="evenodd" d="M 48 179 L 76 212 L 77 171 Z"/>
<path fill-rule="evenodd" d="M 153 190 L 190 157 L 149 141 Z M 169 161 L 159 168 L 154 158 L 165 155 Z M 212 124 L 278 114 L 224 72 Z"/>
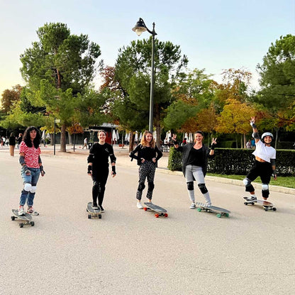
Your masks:
<path fill-rule="evenodd" d="M 147 30 L 148 33 L 152 34 L 152 69 L 150 74 L 150 118 L 149 118 L 149 130 L 152 132 L 152 116 L 153 116 L 153 108 L 154 108 L 154 84 L 155 84 L 155 23 L 152 23 L 152 30 L 149 30 L 147 26 L 145 26 L 145 22 L 143 18 L 139 18 L 139 21 L 136 23 L 135 27 L 132 29 L 138 36 L 141 33 Z"/>

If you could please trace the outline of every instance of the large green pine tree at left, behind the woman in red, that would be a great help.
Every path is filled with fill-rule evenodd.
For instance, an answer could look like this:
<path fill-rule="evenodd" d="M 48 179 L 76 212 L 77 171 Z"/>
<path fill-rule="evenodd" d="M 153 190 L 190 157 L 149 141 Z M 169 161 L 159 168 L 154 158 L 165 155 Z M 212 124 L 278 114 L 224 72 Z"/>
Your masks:
<path fill-rule="evenodd" d="M 71 35 L 64 23 L 46 23 L 37 35 L 39 42 L 21 55 L 21 74 L 30 90 L 30 104 L 45 106 L 60 118 L 60 150 L 65 152 L 65 130 L 72 125 L 70 116 L 74 115 L 78 97 L 87 92 L 96 67 L 101 65 L 96 64 L 101 52 L 87 35 Z"/>

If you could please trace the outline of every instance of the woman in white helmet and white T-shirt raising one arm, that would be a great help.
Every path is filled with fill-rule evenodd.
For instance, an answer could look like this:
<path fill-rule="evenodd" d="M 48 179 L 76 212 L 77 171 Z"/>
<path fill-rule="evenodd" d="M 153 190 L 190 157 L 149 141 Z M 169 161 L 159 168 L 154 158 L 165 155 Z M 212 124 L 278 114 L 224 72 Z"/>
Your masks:
<path fill-rule="evenodd" d="M 253 128 L 252 136 L 255 138 L 256 145 L 255 151 L 252 153 L 252 155 L 255 155 L 255 164 L 243 182 L 245 184 L 246 191 L 250 192 L 250 197 L 247 201 L 255 202 L 257 201 L 257 198 L 255 196 L 255 189 L 251 182 L 260 176 L 262 182 L 262 198 L 267 200 L 269 197 L 269 182 L 272 174 L 274 175 L 274 179 L 277 179 L 275 164 L 276 150 L 270 145 L 274 139 L 272 133 L 263 133 L 260 140 L 260 136 L 255 125 L 255 117 L 251 118 L 250 125 Z"/>

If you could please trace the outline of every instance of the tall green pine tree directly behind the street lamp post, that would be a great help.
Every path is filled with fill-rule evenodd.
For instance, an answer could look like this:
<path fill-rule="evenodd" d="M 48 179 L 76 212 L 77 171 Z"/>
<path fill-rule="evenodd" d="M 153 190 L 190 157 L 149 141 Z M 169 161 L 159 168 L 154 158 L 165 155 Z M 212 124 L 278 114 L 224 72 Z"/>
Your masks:
<path fill-rule="evenodd" d="M 150 67 L 152 38 L 133 41 L 119 50 L 115 65 L 116 93 L 118 102 L 113 104 L 120 124 L 128 130 L 147 128 L 150 101 Z M 181 55 L 179 45 L 155 40 L 155 87 L 154 87 L 154 126 L 160 135 L 164 110 L 171 104 L 171 86 L 187 65 L 187 57 Z M 123 108 L 125 105 L 126 108 Z M 132 118 L 128 118 L 130 113 Z M 133 120 L 137 118 L 138 120 Z M 135 123 L 136 121 L 136 123 Z M 140 126 L 138 126 L 138 122 Z M 135 125 L 133 125 L 135 123 Z M 157 144 L 160 136 L 157 136 Z"/>

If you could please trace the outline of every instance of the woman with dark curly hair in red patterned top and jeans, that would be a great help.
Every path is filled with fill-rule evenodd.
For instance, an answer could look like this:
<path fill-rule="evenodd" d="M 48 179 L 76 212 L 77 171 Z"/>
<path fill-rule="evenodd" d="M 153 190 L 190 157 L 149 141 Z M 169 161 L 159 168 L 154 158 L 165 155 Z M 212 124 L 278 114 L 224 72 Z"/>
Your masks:
<path fill-rule="evenodd" d="M 33 201 L 39 176 L 44 176 L 42 161 L 40 158 L 40 132 L 34 126 L 30 126 L 23 134 L 23 141 L 19 146 L 19 162 L 21 164 L 21 177 L 23 178 L 23 190 L 19 202 L 18 214 L 24 215 L 23 206 L 28 204 L 27 213 L 39 215 L 33 209 Z"/>

